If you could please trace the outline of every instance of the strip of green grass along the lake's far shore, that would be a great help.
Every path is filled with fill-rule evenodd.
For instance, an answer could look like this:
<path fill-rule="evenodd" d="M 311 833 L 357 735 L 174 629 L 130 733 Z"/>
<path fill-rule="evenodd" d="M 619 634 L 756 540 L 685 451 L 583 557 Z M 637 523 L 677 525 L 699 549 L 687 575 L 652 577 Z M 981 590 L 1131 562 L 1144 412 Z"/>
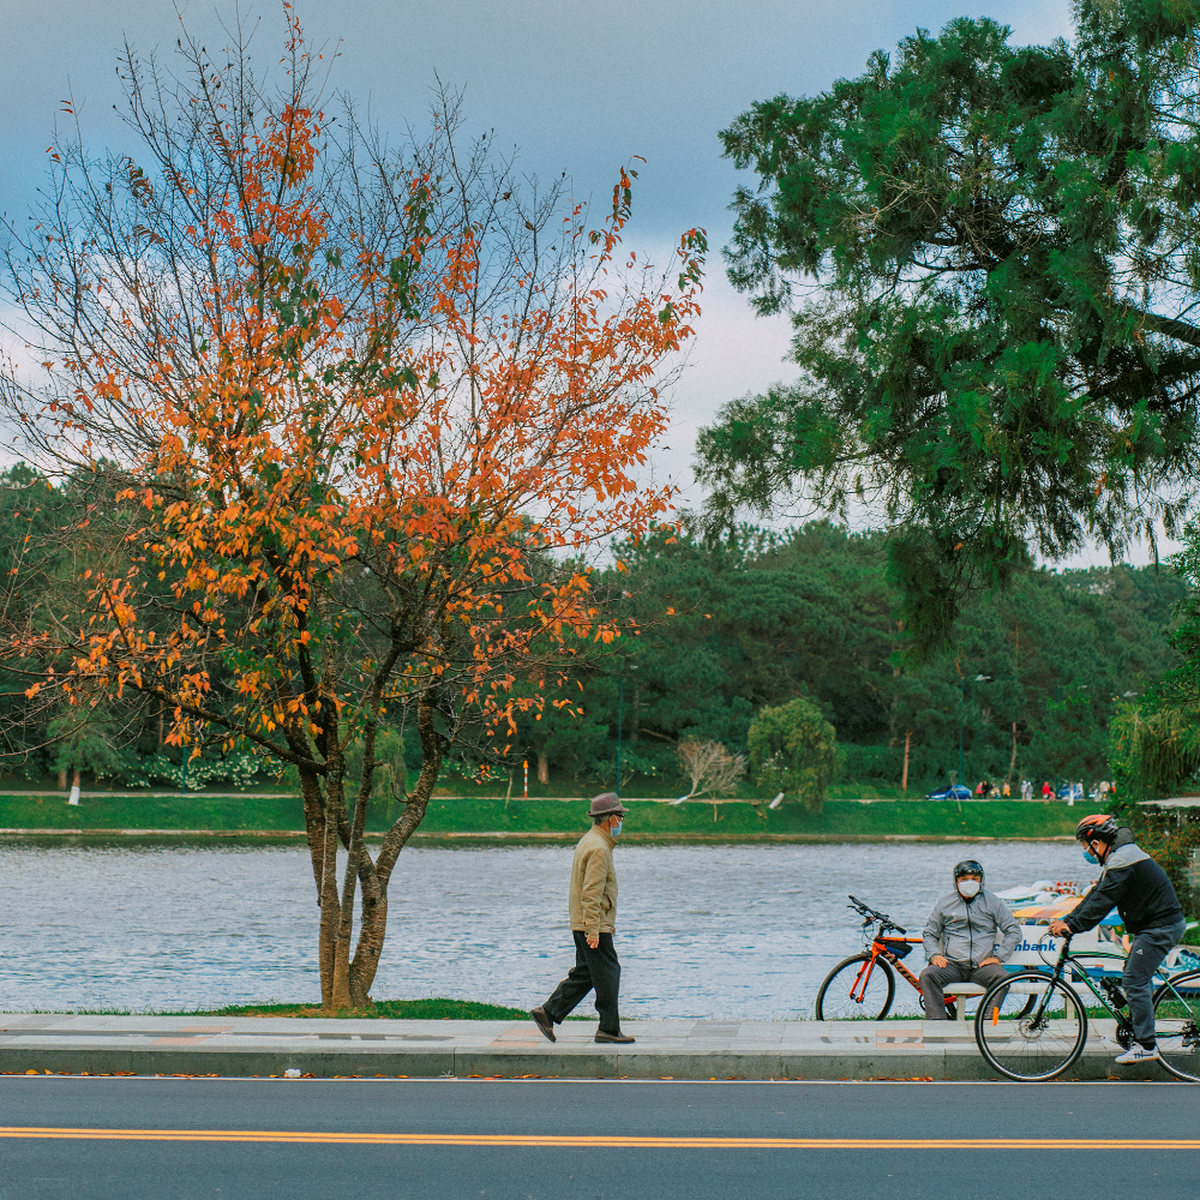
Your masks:
<path fill-rule="evenodd" d="M 1086 811 L 1064 804 L 1021 800 L 827 800 L 821 812 L 785 803 L 689 800 L 673 805 L 626 802 L 624 840 L 775 841 L 878 840 L 892 838 L 1063 838 Z M 434 797 L 416 835 L 425 844 L 564 840 L 587 828 L 587 802 L 508 800 L 487 797 Z M 132 834 L 191 830 L 236 836 L 294 835 L 301 829 L 300 802 L 287 794 L 90 793 L 78 806 L 59 793 L 0 796 L 0 828 L 86 830 Z M 378 814 L 372 828 L 386 828 Z"/>

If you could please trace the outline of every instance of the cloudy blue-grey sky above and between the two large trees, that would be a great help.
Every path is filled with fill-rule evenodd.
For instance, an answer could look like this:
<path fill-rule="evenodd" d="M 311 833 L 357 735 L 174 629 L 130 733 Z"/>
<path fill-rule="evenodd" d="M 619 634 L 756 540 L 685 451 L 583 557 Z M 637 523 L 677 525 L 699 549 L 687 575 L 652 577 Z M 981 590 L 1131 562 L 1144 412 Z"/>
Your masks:
<path fill-rule="evenodd" d="M 370 106 L 384 130 L 425 124 L 437 80 L 464 92 L 464 132 L 494 132 L 524 172 L 565 172 L 577 196 L 605 197 L 634 156 L 640 179 L 626 245 L 665 254 L 684 229 L 708 230 L 713 254 L 703 316 L 672 397 L 672 427 L 653 472 L 698 506 L 696 431 L 722 403 L 791 377 L 788 324 L 757 318 L 726 282 L 720 247 L 739 176 L 718 132 L 755 100 L 812 95 L 860 74 L 868 55 L 918 26 L 990 16 L 1018 43 L 1069 36 L 1069 0 L 296 0 L 310 42 L 330 61 L 330 86 Z M 260 22 L 254 48 L 274 62 L 282 8 L 240 8 Z M 127 38 L 169 60 L 180 17 L 212 49 L 234 4 L 170 0 L 0 0 L 8 53 L 0 74 L 0 210 L 19 217 L 44 179 L 46 149 L 71 97 L 85 140 L 132 150 L 114 106 Z M 1100 559 L 1096 559 L 1100 560 Z"/>

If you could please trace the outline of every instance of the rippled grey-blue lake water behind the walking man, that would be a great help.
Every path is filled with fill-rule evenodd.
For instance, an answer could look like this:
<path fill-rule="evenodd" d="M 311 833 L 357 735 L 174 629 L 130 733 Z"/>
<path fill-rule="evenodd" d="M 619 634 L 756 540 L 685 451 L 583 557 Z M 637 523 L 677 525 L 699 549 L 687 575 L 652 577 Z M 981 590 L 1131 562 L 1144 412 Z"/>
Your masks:
<path fill-rule="evenodd" d="M 620 846 L 622 1012 L 809 1016 L 826 972 L 860 946 L 847 893 L 919 934 L 962 858 L 983 862 L 992 889 L 1091 877 L 1055 842 Z M 539 1003 L 574 961 L 570 864 L 568 846 L 406 850 L 372 994 Z M 0 1009 L 319 1001 L 299 846 L 10 845 L 0 880 Z"/>

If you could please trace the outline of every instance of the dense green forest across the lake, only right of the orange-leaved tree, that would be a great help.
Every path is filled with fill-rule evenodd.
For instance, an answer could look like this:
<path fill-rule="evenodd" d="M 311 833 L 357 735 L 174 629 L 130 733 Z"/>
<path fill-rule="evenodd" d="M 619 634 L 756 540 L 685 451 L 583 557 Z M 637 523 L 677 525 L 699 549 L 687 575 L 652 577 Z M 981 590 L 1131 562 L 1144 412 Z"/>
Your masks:
<path fill-rule="evenodd" d="M 682 739 L 744 751 L 763 706 L 806 695 L 838 732 L 845 780 L 899 785 L 907 746 L 910 792 L 946 784 L 961 728 L 964 782 L 1094 782 L 1117 706 L 1176 661 L 1163 635 L 1187 592 L 1166 566 L 1033 571 L 974 595 L 953 649 L 918 665 L 882 535 L 816 522 L 713 545 L 661 530 L 622 560 L 628 574 L 602 583 L 640 635 L 584 672 L 582 716 L 523 722 L 542 778 L 611 776 L 618 707 L 624 766 L 666 784 Z"/>

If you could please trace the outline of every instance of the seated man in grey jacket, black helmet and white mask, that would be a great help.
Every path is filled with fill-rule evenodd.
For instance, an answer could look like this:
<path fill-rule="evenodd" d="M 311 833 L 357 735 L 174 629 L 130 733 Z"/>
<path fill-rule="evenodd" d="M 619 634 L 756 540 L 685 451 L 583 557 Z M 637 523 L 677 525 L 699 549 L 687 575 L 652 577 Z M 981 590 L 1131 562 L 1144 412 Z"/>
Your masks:
<path fill-rule="evenodd" d="M 930 1021 L 946 1020 L 948 983 L 990 988 L 1003 979 L 1001 966 L 1016 949 L 1021 926 L 997 895 L 983 888 L 983 868 L 968 858 L 954 868 L 954 890 L 934 906 L 923 934 L 928 966 L 920 973 L 920 1000 Z"/>

